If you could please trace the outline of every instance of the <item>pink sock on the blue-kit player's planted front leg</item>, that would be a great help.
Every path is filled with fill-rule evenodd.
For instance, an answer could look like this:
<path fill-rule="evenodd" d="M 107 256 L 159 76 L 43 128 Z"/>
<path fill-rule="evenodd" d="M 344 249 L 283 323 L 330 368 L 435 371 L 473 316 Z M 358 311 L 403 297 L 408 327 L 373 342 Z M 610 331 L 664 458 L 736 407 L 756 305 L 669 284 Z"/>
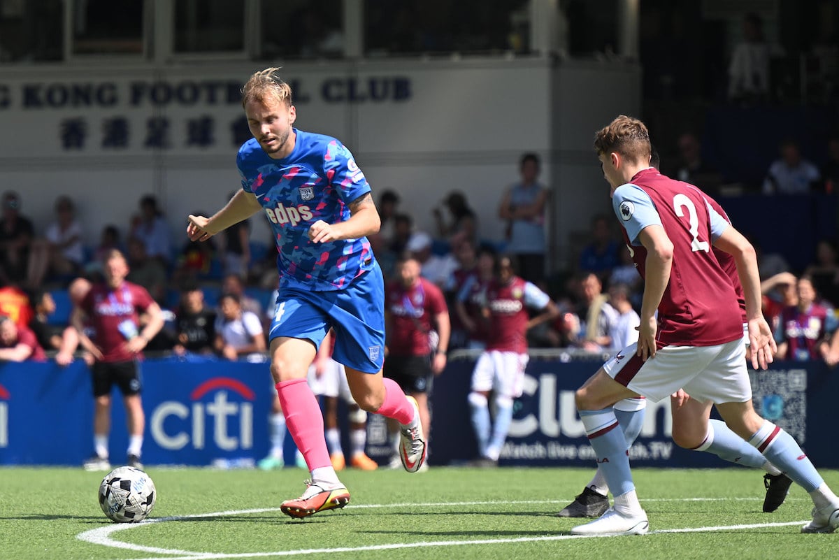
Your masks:
<path fill-rule="evenodd" d="M 283 407 L 285 425 L 309 470 L 332 466 L 323 435 L 323 414 L 305 379 L 280 381 L 275 385 Z"/>

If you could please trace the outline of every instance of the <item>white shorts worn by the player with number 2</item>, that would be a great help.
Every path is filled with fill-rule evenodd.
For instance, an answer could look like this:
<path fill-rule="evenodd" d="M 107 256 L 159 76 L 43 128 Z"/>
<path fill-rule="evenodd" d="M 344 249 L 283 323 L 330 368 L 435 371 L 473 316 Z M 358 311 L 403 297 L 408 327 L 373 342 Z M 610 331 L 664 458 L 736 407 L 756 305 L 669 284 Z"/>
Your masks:
<path fill-rule="evenodd" d="M 653 402 L 679 389 L 698 401 L 752 399 L 743 339 L 715 346 L 664 346 L 646 362 L 635 355 L 637 348 L 637 343 L 627 346 L 603 364 L 603 370 Z"/>

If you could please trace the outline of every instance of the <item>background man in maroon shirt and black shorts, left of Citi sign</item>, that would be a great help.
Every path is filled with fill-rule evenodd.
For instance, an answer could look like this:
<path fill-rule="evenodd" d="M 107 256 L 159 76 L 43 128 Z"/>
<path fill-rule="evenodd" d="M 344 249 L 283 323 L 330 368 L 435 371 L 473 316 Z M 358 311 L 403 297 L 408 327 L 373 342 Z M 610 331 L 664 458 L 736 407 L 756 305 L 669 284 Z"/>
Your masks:
<path fill-rule="evenodd" d="M 93 445 L 94 454 L 85 463 L 88 470 L 110 469 L 108 434 L 111 431 L 111 390 L 117 385 L 128 417 L 128 465 L 140 466 L 143 450 L 145 415 L 140 393 L 143 382 L 138 360 L 149 340 L 163 328 L 160 307 L 145 288 L 125 281 L 128 262 L 122 252 L 107 251 L 102 260 L 104 282 L 93 284 L 81 299 L 70 323 L 79 332 L 79 339 L 94 358 L 93 373 Z M 140 327 L 140 314 L 145 317 Z M 86 324 L 93 329 L 94 339 L 86 334 Z"/>

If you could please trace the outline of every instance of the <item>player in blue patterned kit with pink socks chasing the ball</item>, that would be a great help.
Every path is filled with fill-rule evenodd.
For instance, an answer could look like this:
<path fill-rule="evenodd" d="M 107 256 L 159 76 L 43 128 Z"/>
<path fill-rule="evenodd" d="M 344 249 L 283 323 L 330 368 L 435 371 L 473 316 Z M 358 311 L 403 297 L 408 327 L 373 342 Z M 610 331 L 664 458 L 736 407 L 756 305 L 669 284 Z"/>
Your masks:
<path fill-rule="evenodd" d="M 333 358 L 345 366 L 352 397 L 367 412 L 399 422 L 407 471 L 420 469 L 426 445 L 416 402 L 382 376 L 384 284 L 366 237 L 378 231 L 380 220 L 370 185 L 336 138 L 293 127 L 291 88 L 278 70 L 258 71 L 242 88 L 253 134 L 237 157 L 242 189 L 211 218 L 190 215 L 186 231 L 190 240 L 206 241 L 259 210 L 274 229 L 279 296 L 268 331 L 271 376 L 311 472 L 303 495 L 280 509 L 306 517 L 350 500 L 332 468 L 323 416 L 306 383 L 330 328 Z"/>

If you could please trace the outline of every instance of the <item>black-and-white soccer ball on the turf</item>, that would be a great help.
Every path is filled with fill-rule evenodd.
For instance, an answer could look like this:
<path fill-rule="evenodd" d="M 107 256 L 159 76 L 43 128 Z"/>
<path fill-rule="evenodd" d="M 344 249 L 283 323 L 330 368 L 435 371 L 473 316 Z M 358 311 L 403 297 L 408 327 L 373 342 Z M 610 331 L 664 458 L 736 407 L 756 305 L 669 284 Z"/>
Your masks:
<path fill-rule="evenodd" d="M 134 467 L 117 467 L 99 485 L 99 506 L 117 523 L 143 521 L 154 507 L 157 492 L 149 474 Z"/>

